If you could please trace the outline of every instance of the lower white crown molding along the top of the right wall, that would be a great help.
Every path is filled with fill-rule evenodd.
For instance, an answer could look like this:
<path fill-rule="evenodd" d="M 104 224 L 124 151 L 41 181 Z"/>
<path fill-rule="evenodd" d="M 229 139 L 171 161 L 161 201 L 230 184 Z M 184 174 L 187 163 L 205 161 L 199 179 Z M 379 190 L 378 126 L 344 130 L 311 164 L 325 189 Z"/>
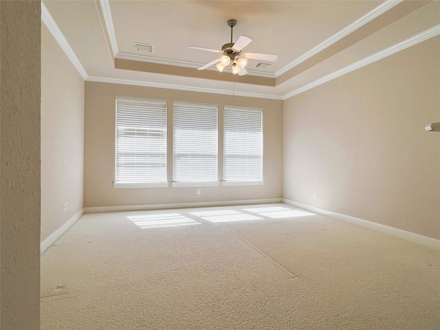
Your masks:
<path fill-rule="evenodd" d="M 417 45 L 418 43 L 426 41 L 434 36 L 438 36 L 439 34 L 440 34 L 440 24 L 435 25 L 432 28 L 425 30 L 419 34 L 416 34 L 415 36 L 412 36 L 404 41 L 401 41 L 400 43 L 397 43 L 391 47 L 385 48 L 380 52 L 367 56 L 366 58 L 363 58 L 360 61 L 352 63 L 351 65 L 347 65 L 347 67 L 343 67 L 342 69 L 336 70 L 331 74 L 327 74 L 327 76 L 323 76 L 322 78 L 315 80 L 313 83 L 309 83 L 303 87 L 295 89 L 294 91 L 285 94 L 283 96 L 283 100 L 286 100 L 287 98 L 291 98 L 292 96 L 296 96 L 300 93 L 303 93 L 304 91 L 308 91 L 309 89 L 322 85 L 323 83 L 327 83 L 330 80 L 343 76 L 344 74 L 348 74 L 349 72 L 353 72 L 357 69 L 360 69 L 361 67 L 369 65 L 376 61 L 380 61 L 382 60 L 382 58 L 386 58 L 390 55 L 396 54 L 397 52 L 406 50 L 406 48 Z"/>

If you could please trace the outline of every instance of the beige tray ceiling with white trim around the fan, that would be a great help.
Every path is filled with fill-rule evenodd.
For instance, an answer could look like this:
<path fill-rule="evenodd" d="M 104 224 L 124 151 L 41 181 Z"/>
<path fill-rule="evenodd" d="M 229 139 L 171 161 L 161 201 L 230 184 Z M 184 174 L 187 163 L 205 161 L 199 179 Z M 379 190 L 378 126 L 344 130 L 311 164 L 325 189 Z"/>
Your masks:
<path fill-rule="evenodd" d="M 43 22 L 71 60 L 76 58 L 72 62 L 86 80 L 278 99 L 404 40 L 410 35 L 400 32 L 399 21 L 410 14 L 421 17 L 415 31 L 429 28 L 422 11 L 435 5 L 400 0 L 43 4 Z M 228 19 L 237 21 L 233 42 L 241 35 L 252 39 L 243 52 L 277 54 L 278 61 L 255 67 L 261 61 L 249 60 L 245 76 L 228 68 L 220 73 L 215 66 L 197 70 L 219 55 L 189 46 L 220 50 L 230 42 Z M 153 45 L 154 51 L 136 51 L 135 43 Z"/>

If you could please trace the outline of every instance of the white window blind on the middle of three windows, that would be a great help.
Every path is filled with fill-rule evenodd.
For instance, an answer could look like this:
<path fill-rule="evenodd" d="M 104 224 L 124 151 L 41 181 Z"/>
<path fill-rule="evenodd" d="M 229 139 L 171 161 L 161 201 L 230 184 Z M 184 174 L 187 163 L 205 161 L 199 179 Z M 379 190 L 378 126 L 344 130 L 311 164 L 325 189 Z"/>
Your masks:
<path fill-rule="evenodd" d="M 173 185 L 215 183 L 217 105 L 174 103 Z"/>

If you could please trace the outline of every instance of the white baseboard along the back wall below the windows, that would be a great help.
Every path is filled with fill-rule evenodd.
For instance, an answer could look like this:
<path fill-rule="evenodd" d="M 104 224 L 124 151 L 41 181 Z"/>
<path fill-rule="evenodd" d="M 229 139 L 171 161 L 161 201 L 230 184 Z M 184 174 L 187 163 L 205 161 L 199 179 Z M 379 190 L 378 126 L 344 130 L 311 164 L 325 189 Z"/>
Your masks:
<path fill-rule="evenodd" d="M 247 204 L 281 203 L 281 198 L 244 199 L 239 201 L 195 201 L 192 203 L 164 203 L 146 205 L 96 206 L 84 208 L 85 213 L 164 210 L 167 208 L 204 208 L 210 206 L 232 206 Z"/>

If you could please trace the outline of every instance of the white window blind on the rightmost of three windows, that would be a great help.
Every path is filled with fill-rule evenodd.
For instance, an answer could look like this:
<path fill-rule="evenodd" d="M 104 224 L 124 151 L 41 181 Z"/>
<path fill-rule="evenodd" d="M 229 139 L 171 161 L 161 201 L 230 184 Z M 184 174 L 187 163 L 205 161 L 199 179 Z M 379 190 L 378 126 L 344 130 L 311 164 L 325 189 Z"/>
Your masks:
<path fill-rule="evenodd" d="M 263 110 L 224 107 L 223 184 L 263 182 Z"/>

